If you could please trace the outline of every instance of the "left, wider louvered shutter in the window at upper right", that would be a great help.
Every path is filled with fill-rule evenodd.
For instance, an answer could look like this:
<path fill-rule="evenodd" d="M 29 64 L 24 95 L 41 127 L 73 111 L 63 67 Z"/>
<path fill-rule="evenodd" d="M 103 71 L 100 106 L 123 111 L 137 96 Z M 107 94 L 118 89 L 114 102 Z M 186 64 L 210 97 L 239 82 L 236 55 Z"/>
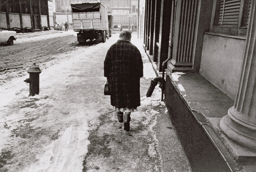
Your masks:
<path fill-rule="evenodd" d="M 219 26 L 237 27 L 241 0 L 221 0 Z"/>

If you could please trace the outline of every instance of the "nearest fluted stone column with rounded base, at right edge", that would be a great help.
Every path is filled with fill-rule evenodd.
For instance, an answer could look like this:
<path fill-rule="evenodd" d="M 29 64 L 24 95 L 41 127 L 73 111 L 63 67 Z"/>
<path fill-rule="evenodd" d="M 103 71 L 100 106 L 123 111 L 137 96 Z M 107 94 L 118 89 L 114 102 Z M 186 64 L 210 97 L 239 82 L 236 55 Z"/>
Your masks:
<path fill-rule="evenodd" d="M 256 12 L 251 4 L 250 22 L 244 48 L 236 100 L 221 119 L 221 130 L 232 141 L 256 151 Z"/>

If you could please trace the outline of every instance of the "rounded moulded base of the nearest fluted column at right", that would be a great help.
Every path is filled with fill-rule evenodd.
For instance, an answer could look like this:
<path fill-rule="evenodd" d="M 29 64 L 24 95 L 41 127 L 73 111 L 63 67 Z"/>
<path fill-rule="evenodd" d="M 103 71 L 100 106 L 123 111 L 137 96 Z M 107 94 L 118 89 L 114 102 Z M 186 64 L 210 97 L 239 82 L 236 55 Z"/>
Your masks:
<path fill-rule="evenodd" d="M 256 130 L 248 128 L 248 124 L 237 118 L 236 110 L 231 107 L 228 115 L 224 116 L 220 121 L 221 130 L 237 144 L 244 146 L 256 152 Z"/>

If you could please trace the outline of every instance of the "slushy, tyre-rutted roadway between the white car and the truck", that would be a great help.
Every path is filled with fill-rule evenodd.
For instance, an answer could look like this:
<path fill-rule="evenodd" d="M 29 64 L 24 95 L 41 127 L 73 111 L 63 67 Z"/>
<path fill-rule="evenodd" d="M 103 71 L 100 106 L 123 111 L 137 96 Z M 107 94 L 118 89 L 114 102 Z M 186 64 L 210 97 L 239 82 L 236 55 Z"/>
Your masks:
<path fill-rule="evenodd" d="M 40 64 L 55 58 L 61 59 L 64 55 L 59 54 L 70 54 L 79 46 L 73 34 L 48 31 L 49 37 L 45 37 L 46 33 L 17 34 L 14 45 L 0 45 L 0 85 L 15 76 L 10 76 L 10 73 L 26 75 L 32 62 Z"/>

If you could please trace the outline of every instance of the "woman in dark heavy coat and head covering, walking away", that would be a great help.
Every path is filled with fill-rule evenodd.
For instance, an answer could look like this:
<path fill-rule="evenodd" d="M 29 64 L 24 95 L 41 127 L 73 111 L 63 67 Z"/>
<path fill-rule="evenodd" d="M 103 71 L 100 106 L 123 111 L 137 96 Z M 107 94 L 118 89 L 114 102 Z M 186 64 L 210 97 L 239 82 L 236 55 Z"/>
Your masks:
<path fill-rule="evenodd" d="M 123 30 L 111 45 L 104 61 L 104 76 L 108 79 L 111 105 L 117 118 L 130 130 L 131 112 L 140 106 L 140 78 L 143 62 L 140 51 L 131 41 L 131 32 Z M 125 113 L 125 114 L 124 114 Z"/>

